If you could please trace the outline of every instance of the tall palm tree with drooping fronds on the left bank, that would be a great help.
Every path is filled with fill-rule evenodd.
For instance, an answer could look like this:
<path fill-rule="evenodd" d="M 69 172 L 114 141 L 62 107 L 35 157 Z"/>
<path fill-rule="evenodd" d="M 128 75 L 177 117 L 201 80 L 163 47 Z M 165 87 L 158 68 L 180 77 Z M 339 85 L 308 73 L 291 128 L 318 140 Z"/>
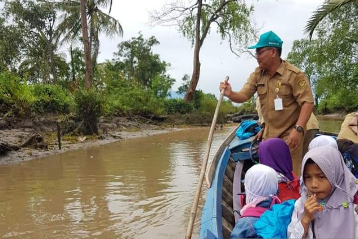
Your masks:
<path fill-rule="evenodd" d="M 82 7 L 85 7 L 82 9 L 82 13 L 87 16 L 82 20 L 81 2 Z M 62 42 L 70 43 L 76 41 L 80 36 L 82 37 L 86 60 L 85 86 L 88 89 L 92 85 L 93 71 L 100 49 L 99 35 L 104 33 L 109 38 L 113 38 L 115 35 L 122 36 L 122 26 L 118 20 L 108 15 L 109 13 L 106 14 L 101 10 L 101 8 L 109 6 L 111 11 L 112 0 L 64 0 L 57 3 L 57 6 L 64 11 L 61 17 L 63 21 L 58 26 L 59 32 L 64 35 Z"/>

